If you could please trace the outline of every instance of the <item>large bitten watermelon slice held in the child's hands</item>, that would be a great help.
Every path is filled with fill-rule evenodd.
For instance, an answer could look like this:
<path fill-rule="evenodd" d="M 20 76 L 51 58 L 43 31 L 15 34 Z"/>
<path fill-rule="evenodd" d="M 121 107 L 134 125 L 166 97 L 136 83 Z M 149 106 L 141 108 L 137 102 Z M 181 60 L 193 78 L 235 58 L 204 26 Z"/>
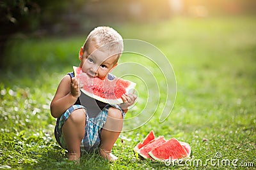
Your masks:
<path fill-rule="evenodd" d="M 74 76 L 83 84 L 81 91 L 87 96 L 108 104 L 123 103 L 121 96 L 125 93 L 133 93 L 136 83 L 115 77 L 113 80 L 105 78 L 93 78 L 83 73 L 81 67 L 73 67 Z"/>

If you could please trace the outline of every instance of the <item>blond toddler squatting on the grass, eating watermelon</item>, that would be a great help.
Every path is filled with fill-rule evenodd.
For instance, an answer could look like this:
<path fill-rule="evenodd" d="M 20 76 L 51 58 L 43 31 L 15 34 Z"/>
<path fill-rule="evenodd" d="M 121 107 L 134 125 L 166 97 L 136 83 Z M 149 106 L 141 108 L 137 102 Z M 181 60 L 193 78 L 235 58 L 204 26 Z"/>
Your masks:
<path fill-rule="evenodd" d="M 124 50 L 122 37 L 111 27 L 96 27 L 88 35 L 79 52 L 79 67 L 83 73 L 104 80 L 113 80 L 109 72 L 118 64 Z M 122 104 L 107 104 L 81 94 L 74 73 L 65 75 L 51 102 L 51 115 L 57 118 L 56 141 L 68 151 L 68 160 L 79 160 L 81 150 L 99 154 L 109 161 L 117 157 L 111 149 L 122 131 L 128 107 L 135 94 L 123 94 Z M 94 116 L 92 116 L 94 115 Z"/>

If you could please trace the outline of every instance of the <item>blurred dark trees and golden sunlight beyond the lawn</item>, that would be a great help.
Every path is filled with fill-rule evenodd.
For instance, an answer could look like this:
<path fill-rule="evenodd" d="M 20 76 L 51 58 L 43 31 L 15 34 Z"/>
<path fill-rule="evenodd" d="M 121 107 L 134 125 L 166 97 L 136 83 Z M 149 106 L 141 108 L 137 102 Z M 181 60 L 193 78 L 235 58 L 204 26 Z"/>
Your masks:
<path fill-rule="evenodd" d="M 154 25 L 177 16 L 237 17 L 255 15 L 255 8 L 253 0 L 3 0 L 0 2 L 1 59 L 6 56 L 3 53 L 6 42 L 15 34 L 24 39 L 74 34 L 85 37 L 96 25 Z M 4 60 L 1 60 L 1 67 L 4 65 Z"/>

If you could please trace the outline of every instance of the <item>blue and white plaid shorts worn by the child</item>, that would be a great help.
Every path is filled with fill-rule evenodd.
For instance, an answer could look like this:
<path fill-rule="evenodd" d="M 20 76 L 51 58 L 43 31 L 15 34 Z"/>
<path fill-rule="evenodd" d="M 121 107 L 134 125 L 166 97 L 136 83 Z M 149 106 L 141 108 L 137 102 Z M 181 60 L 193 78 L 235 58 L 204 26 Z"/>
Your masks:
<path fill-rule="evenodd" d="M 102 111 L 100 111 L 100 113 L 96 117 L 93 118 L 88 117 L 88 114 L 86 113 L 86 108 L 84 108 L 84 106 L 79 104 L 71 106 L 70 108 L 68 108 L 67 111 L 65 111 L 65 113 L 61 115 L 60 118 L 57 118 L 56 126 L 54 129 L 56 141 L 62 148 L 67 149 L 67 145 L 62 134 L 62 126 L 73 111 L 77 109 L 83 109 L 84 113 L 86 113 L 86 125 L 84 138 L 81 141 L 80 148 L 82 151 L 84 150 L 86 152 L 93 152 L 100 145 L 100 132 L 104 124 L 106 124 L 109 107 L 118 108 L 122 113 L 122 117 L 124 118 L 125 113 L 122 108 L 120 108 L 120 106 L 118 106 L 117 104 L 108 104 L 105 108 L 103 108 Z"/>

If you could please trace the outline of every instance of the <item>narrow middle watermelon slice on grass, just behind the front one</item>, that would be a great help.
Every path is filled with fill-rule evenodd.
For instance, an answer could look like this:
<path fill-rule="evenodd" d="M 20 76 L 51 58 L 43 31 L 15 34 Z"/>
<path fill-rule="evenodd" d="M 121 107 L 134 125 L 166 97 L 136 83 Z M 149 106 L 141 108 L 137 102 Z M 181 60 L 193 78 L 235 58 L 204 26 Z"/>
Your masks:
<path fill-rule="evenodd" d="M 150 152 L 152 149 L 156 148 L 157 146 L 162 145 L 165 142 L 166 140 L 164 139 L 164 136 L 159 136 L 158 138 L 150 141 L 147 145 L 140 148 L 140 150 L 138 150 L 138 153 L 139 155 L 141 155 L 141 157 L 145 159 L 152 159 L 150 155 L 148 155 L 148 152 Z"/>

